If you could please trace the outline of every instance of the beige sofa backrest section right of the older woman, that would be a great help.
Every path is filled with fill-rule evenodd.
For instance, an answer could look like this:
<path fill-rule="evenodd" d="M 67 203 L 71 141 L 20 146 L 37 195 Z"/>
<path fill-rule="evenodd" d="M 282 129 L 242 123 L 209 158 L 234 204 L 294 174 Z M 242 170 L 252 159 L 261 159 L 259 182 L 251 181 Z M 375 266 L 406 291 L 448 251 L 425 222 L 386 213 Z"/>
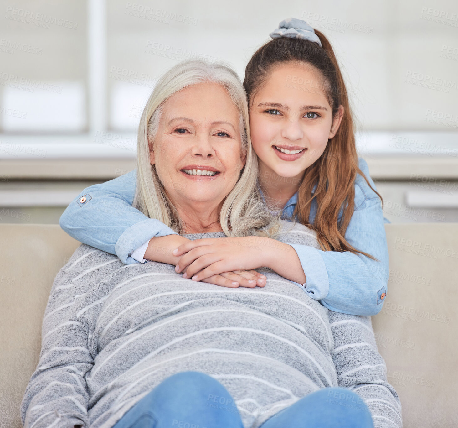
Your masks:
<path fill-rule="evenodd" d="M 403 426 L 458 427 L 458 223 L 385 230 L 388 291 L 372 325 Z"/>

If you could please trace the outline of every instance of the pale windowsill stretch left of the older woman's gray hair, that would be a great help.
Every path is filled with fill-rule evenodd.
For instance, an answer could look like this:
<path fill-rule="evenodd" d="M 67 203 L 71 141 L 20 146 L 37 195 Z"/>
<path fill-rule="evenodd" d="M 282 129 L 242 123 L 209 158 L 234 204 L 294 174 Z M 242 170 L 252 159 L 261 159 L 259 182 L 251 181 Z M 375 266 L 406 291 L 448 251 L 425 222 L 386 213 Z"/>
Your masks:
<path fill-rule="evenodd" d="M 9 180 L 110 180 L 135 168 L 136 136 L 0 134 L 0 171 Z"/>

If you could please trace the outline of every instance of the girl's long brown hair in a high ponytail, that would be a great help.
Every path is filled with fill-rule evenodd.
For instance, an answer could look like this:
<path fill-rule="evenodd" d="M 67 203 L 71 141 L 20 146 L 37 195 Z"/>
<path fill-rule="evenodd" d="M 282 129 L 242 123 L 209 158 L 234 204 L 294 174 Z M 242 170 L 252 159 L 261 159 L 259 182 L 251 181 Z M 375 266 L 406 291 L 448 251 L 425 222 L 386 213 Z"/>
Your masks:
<path fill-rule="evenodd" d="M 318 242 L 325 251 L 349 251 L 360 253 L 376 260 L 366 252 L 359 251 L 347 242 L 345 231 L 354 211 L 354 183 L 356 174 L 367 177 L 358 166 L 358 155 L 354 142 L 354 125 L 349 106 L 347 89 L 340 72 L 333 48 L 327 38 L 315 30 L 322 47 L 310 40 L 299 38 L 275 38 L 259 48 L 245 68 L 243 87 L 251 107 L 254 96 L 266 83 L 275 66 L 281 63 L 312 66 L 321 77 L 323 89 L 333 118 L 338 115 L 339 105 L 344 107 L 344 115 L 336 135 L 329 139 L 327 146 L 316 162 L 305 170 L 300 185 L 294 215 L 299 221 L 316 230 Z M 316 190 L 312 195 L 313 187 Z M 316 201 L 316 216 L 313 224 L 309 222 L 312 201 Z M 343 214 L 338 221 L 339 211 Z"/>

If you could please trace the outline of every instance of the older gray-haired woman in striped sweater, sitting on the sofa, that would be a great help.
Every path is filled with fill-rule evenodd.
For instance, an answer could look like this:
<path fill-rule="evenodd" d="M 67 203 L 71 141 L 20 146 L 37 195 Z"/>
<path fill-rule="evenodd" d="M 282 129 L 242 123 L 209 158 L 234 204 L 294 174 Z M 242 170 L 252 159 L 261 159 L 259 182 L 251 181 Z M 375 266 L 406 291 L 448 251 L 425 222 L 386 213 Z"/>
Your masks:
<path fill-rule="evenodd" d="M 288 243 L 320 246 L 264 209 L 247 118 L 230 68 L 175 66 L 140 122 L 136 206 L 191 240 L 281 236 L 256 266 L 267 285 L 218 287 L 81 245 L 51 289 L 26 428 L 402 426 L 370 318 L 285 279 L 300 269 Z"/>

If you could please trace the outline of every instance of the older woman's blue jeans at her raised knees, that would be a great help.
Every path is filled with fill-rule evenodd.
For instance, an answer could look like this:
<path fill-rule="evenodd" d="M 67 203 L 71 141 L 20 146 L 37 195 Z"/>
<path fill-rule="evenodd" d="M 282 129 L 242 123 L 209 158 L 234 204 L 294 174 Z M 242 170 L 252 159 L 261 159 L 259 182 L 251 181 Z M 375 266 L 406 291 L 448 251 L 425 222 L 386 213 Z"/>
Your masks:
<path fill-rule="evenodd" d="M 362 398 L 324 388 L 276 413 L 261 428 L 373 428 Z M 158 384 L 114 428 L 244 428 L 228 390 L 200 372 L 181 372 Z"/>

